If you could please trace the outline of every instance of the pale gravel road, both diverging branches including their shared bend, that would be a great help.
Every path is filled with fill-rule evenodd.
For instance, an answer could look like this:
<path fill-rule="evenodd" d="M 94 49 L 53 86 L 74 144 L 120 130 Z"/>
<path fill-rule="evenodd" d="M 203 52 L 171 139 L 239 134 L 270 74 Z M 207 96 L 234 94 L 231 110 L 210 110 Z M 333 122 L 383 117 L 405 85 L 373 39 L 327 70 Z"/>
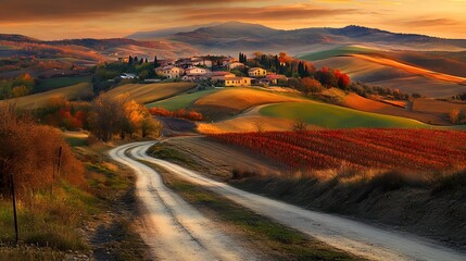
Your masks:
<path fill-rule="evenodd" d="M 211 227 L 209 220 L 163 185 L 161 176 L 139 161 L 150 162 L 198 186 L 207 188 L 259 214 L 315 237 L 330 246 L 371 260 L 466 260 L 466 253 L 412 235 L 389 232 L 349 219 L 305 210 L 292 204 L 245 192 L 184 169 L 151 158 L 154 142 L 118 147 L 111 157 L 137 172 L 137 194 L 149 210 L 158 233 L 151 246 L 163 257 L 209 260 L 247 259 L 227 235 Z M 126 152 L 129 152 L 127 156 Z M 136 161 L 138 160 L 138 161 Z"/>

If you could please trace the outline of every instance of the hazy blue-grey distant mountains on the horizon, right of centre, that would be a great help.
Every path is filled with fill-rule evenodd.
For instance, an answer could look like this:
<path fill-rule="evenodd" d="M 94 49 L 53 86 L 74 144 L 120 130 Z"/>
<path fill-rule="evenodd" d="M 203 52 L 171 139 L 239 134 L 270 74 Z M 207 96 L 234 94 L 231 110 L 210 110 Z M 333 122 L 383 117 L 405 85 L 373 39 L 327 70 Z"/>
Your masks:
<path fill-rule="evenodd" d="M 395 34 L 362 26 L 343 28 L 274 29 L 259 24 L 227 22 L 162 37 L 185 42 L 204 52 L 238 51 L 306 52 L 316 46 L 371 45 L 390 49 L 464 50 L 466 40 L 443 39 L 414 34 Z"/>

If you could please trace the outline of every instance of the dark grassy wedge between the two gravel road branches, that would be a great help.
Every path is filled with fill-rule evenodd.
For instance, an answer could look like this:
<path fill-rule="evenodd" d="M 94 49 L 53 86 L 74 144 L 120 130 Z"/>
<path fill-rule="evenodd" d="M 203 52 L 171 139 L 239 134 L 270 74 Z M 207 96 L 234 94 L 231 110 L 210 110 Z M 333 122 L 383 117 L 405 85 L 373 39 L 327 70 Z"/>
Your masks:
<path fill-rule="evenodd" d="M 362 260 L 277 224 L 235 202 L 180 179 L 165 170 L 147 163 L 163 175 L 164 183 L 187 202 L 212 220 L 219 221 L 234 235 L 245 238 L 252 249 L 260 249 L 270 260 Z"/>

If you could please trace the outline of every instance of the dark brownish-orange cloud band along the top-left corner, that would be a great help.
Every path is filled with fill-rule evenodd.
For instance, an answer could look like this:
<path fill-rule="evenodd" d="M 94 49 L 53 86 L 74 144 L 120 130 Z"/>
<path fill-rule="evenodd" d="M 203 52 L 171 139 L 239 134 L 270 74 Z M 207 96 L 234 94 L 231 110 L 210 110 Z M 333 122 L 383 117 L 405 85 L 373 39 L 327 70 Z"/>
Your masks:
<path fill-rule="evenodd" d="M 222 3 L 252 0 L 223 0 Z M 217 0 L 0 0 L 0 22 L 30 22 L 38 20 L 78 20 L 143 8 L 218 4 Z"/>

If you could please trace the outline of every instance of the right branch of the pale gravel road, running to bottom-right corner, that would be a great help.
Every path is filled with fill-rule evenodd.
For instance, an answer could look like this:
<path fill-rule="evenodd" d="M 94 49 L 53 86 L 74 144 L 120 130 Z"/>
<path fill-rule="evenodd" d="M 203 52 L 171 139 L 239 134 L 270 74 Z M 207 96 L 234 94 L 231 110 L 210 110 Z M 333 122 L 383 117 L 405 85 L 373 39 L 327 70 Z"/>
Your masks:
<path fill-rule="evenodd" d="M 466 253 L 427 239 L 383 231 L 361 222 L 305 210 L 245 192 L 177 164 L 151 158 L 147 156 L 147 150 L 153 144 L 153 141 L 137 144 L 131 157 L 164 167 L 173 174 L 222 195 L 256 213 L 272 217 L 344 251 L 373 260 L 466 260 Z"/>

